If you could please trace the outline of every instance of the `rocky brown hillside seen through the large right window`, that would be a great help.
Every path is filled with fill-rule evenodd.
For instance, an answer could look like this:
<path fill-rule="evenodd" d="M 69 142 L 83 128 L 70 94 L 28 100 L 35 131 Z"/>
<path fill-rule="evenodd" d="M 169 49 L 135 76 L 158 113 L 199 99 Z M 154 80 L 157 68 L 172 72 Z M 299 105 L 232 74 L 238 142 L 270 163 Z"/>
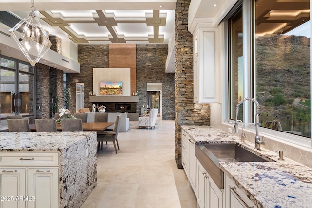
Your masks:
<path fill-rule="evenodd" d="M 298 102 L 310 99 L 310 38 L 257 38 L 256 69 L 256 94 L 262 114 L 310 119 L 310 108 Z"/>

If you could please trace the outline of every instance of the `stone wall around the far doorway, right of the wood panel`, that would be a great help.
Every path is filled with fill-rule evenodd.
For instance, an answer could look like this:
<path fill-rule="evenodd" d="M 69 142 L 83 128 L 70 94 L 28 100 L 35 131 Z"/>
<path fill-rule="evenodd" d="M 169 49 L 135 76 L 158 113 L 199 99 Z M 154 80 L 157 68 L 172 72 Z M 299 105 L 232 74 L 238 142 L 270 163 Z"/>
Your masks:
<path fill-rule="evenodd" d="M 174 120 L 174 73 L 166 73 L 168 45 L 137 45 L 137 90 L 140 107 L 147 105 L 146 83 L 162 83 L 162 120 Z"/>

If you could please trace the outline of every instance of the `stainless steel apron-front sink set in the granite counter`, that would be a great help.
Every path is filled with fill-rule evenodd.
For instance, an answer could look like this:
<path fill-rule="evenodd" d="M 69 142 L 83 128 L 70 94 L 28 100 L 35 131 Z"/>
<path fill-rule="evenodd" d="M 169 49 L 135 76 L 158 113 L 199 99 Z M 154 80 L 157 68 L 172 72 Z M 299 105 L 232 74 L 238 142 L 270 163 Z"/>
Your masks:
<path fill-rule="evenodd" d="M 236 144 L 196 144 L 195 155 L 219 189 L 224 189 L 224 172 L 219 162 L 273 162 Z"/>

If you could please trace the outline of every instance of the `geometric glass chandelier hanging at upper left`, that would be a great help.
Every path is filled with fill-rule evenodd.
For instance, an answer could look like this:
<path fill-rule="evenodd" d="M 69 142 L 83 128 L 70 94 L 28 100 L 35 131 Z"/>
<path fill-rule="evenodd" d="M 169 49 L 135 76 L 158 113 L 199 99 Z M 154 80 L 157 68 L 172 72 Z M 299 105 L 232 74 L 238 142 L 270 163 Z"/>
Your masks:
<path fill-rule="evenodd" d="M 39 19 L 36 17 L 34 0 L 32 2 L 32 11 L 28 17 L 22 19 L 18 24 L 12 27 L 9 32 L 17 42 L 20 50 L 28 59 L 32 66 L 43 57 L 50 49 L 51 42 L 48 33 L 42 28 Z M 22 31 L 22 33 L 20 33 Z"/>

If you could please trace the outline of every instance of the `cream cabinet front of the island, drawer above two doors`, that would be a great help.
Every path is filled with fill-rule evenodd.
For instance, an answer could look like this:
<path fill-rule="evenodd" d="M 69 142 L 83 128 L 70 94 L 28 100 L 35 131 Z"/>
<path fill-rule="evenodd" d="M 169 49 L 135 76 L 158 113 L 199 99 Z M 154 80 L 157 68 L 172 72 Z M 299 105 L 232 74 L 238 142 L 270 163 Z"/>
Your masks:
<path fill-rule="evenodd" d="M 0 208 L 59 208 L 58 152 L 0 153 Z"/>

